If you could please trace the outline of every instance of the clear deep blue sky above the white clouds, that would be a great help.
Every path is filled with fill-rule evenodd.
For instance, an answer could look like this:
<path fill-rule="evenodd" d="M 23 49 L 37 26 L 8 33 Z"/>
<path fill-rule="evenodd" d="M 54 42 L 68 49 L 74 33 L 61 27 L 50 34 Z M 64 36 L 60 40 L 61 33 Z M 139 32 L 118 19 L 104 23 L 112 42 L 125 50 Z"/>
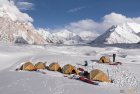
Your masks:
<path fill-rule="evenodd" d="M 33 3 L 27 12 L 36 27 L 56 28 L 83 19 L 101 21 L 115 12 L 128 17 L 140 15 L 140 0 L 26 0 Z"/>

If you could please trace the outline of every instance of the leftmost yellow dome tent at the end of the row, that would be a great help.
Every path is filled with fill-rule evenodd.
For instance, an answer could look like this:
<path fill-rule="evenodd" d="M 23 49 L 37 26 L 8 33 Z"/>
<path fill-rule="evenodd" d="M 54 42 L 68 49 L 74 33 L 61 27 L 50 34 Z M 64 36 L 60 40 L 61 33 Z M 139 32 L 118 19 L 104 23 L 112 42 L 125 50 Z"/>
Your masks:
<path fill-rule="evenodd" d="M 26 62 L 21 66 L 20 70 L 35 71 L 36 68 L 31 62 Z"/>

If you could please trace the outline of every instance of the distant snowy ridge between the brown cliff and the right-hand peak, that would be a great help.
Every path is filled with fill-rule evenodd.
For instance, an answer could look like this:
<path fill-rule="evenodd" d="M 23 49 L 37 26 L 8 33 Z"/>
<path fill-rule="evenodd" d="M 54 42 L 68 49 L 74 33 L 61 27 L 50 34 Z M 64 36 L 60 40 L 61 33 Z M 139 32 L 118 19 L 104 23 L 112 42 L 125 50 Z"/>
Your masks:
<path fill-rule="evenodd" d="M 51 30 L 39 28 L 37 32 L 48 43 L 56 44 L 85 44 L 93 41 L 98 36 L 98 34 L 94 34 L 93 32 L 83 31 L 77 34 L 67 29 L 51 33 Z"/>

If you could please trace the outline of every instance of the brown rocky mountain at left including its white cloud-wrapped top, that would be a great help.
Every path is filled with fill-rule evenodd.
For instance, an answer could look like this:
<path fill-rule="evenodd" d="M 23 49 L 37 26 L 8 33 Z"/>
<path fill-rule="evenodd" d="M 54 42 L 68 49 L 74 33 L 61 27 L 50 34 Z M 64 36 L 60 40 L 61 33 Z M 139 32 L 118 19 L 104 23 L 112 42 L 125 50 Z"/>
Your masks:
<path fill-rule="evenodd" d="M 15 10 L 11 10 L 11 7 L 12 6 L 6 5 L 0 7 L 0 41 L 12 43 L 44 44 L 44 38 L 35 32 L 36 29 L 30 22 L 28 22 L 28 15 L 20 13 L 19 10 L 14 12 Z"/>

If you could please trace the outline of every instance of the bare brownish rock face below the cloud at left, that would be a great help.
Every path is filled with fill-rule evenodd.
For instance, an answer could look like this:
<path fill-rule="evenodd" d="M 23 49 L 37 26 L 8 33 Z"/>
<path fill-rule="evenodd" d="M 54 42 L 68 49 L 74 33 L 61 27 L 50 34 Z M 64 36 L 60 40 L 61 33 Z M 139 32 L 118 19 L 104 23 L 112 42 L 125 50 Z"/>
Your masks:
<path fill-rule="evenodd" d="M 35 31 L 31 23 L 0 17 L 0 41 L 2 42 L 44 44 L 44 38 Z"/>

